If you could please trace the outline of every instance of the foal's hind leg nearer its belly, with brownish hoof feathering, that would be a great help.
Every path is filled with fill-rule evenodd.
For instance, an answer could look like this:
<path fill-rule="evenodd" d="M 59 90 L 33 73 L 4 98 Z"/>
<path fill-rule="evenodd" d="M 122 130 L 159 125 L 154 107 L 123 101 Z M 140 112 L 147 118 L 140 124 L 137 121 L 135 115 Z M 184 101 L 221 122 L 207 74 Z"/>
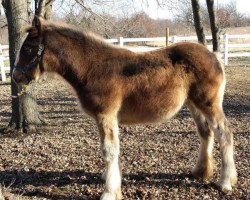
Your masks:
<path fill-rule="evenodd" d="M 197 131 L 200 136 L 199 157 L 195 167 L 192 170 L 193 176 L 208 180 L 213 175 L 213 143 L 214 134 L 206 121 L 204 115 L 194 106 L 193 103 L 188 102 L 187 106 L 192 113 L 194 121 L 197 126 Z"/>

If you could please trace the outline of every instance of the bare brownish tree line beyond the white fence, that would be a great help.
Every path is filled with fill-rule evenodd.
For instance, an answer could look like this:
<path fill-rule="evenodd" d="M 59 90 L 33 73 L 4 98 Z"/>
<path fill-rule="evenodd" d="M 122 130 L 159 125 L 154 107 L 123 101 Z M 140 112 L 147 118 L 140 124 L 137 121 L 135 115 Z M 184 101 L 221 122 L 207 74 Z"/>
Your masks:
<path fill-rule="evenodd" d="M 86 11 L 85 7 L 74 1 L 62 2 L 69 9 L 63 15 L 53 13 L 52 18 L 66 21 L 84 29 L 96 32 L 105 38 L 123 37 L 156 37 L 164 36 L 165 28 L 170 28 L 171 35 L 195 34 L 193 10 L 190 0 L 180 0 L 178 6 L 170 4 L 166 9 L 173 10 L 173 18 L 152 19 L 145 12 L 123 12 L 122 15 L 112 15 L 108 10 L 100 12 Z M 60 5 L 60 2 L 59 2 Z M 111 5 L 111 3 L 110 3 Z M 131 4 L 131 6 L 133 6 Z M 163 8 L 165 8 L 163 7 Z M 132 9 L 131 7 L 129 8 Z M 215 8 L 219 27 L 222 29 L 232 27 L 250 26 L 250 16 L 240 13 L 236 7 L 236 1 L 221 4 Z M 205 33 L 210 31 L 210 20 L 207 7 L 200 5 L 201 23 Z M 7 21 L 4 15 L 0 16 L 0 42 L 7 43 Z"/>

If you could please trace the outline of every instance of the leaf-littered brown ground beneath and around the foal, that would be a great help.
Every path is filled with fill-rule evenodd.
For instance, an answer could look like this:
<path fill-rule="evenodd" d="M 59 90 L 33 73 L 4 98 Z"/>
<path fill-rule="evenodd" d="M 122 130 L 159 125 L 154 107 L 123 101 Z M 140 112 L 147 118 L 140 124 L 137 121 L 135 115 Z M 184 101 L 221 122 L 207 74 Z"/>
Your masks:
<path fill-rule="evenodd" d="M 224 108 L 235 138 L 239 182 L 222 193 L 220 156 L 209 183 L 190 176 L 199 139 L 189 112 L 158 125 L 121 126 L 122 193 L 137 199 L 250 198 L 250 67 L 227 67 Z M 97 127 L 81 113 L 61 80 L 38 88 L 41 114 L 51 125 L 35 134 L 0 136 L 0 183 L 7 199 L 99 199 L 104 167 Z M 10 120 L 10 83 L 0 82 L 0 128 Z"/>

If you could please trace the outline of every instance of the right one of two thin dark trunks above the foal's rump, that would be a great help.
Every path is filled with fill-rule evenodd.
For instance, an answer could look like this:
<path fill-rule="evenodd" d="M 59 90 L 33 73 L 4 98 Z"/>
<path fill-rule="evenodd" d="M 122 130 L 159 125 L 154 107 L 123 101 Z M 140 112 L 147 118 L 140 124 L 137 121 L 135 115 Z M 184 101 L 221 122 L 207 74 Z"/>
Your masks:
<path fill-rule="evenodd" d="M 210 20 L 210 27 L 213 37 L 213 51 L 220 52 L 219 25 L 217 22 L 216 12 L 214 10 L 214 0 L 206 0 L 206 1 L 207 1 L 207 10 Z"/>

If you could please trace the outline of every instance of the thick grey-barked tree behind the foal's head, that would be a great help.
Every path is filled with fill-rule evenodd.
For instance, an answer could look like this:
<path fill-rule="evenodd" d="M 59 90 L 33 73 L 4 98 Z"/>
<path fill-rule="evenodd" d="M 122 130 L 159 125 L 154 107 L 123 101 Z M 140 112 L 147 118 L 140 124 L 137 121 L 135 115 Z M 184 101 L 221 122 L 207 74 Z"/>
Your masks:
<path fill-rule="evenodd" d="M 39 13 L 41 14 L 41 10 L 46 10 L 45 8 L 41 8 L 41 6 L 46 6 L 46 3 L 43 3 L 45 0 L 37 0 L 36 2 L 39 3 L 36 10 L 39 9 Z M 47 5 L 52 3 L 51 0 L 46 0 L 46 2 L 48 3 Z M 30 18 L 30 3 L 31 1 L 29 0 L 2 1 L 8 22 L 11 75 L 18 50 L 24 37 L 22 29 Z M 51 8 L 51 6 L 49 7 Z M 50 9 L 47 10 L 51 13 Z M 45 13 L 46 12 L 43 12 L 42 14 Z M 36 82 L 33 82 L 28 87 L 22 87 L 16 85 L 14 81 L 11 81 L 12 116 L 5 132 L 12 132 L 13 130 L 21 132 L 35 131 L 37 125 L 44 124 L 44 120 L 38 112 L 36 103 L 37 90 L 35 88 Z"/>

